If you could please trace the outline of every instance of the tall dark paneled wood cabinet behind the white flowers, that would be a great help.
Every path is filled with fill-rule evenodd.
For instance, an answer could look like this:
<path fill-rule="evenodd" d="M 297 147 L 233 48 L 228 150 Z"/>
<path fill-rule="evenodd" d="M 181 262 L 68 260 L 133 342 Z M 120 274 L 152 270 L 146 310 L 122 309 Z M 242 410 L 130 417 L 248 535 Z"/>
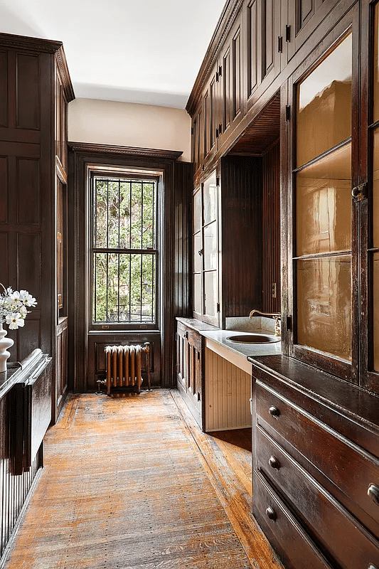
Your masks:
<path fill-rule="evenodd" d="M 56 336 L 58 319 L 68 316 L 66 139 L 73 89 L 60 42 L 2 33 L 0 68 L 0 282 L 38 301 L 25 326 L 10 334 L 11 359 L 41 348 L 53 356 L 53 382 L 61 381 L 67 351 Z M 53 399 L 53 421 L 62 403 Z"/>

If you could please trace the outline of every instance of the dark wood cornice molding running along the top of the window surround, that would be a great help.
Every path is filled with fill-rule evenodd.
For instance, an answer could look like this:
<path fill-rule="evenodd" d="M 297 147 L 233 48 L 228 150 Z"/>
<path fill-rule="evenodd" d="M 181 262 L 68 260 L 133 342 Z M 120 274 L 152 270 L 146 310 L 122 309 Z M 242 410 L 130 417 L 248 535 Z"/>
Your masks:
<path fill-rule="evenodd" d="M 118 154 L 120 156 L 130 156 L 136 159 L 163 159 L 176 160 L 183 154 L 183 151 L 159 150 L 154 148 L 135 148 L 117 147 L 110 144 L 90 144 L 87 142 L 68 142 L 68 147 L 75 152 L 85 152 L 87 154 Z"/>

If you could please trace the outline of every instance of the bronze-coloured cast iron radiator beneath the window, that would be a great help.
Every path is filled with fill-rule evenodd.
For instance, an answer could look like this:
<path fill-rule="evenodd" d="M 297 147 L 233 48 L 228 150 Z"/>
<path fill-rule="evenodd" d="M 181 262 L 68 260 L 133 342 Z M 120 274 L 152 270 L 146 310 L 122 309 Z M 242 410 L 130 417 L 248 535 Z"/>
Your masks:
<path fill-rule="evenodd" d="M 112 388 L 135 388 L 141 393 L 142 369 L 146 370 L 147 388 L 150 386 L 150 344 L 146 342 L 142 346 L 106 346 L 107 378 L 105 381 L 97 380 L 97 383 L 107 385 L 107 395 Z M 146 361 L 143 366 L 142 358 Z"/>

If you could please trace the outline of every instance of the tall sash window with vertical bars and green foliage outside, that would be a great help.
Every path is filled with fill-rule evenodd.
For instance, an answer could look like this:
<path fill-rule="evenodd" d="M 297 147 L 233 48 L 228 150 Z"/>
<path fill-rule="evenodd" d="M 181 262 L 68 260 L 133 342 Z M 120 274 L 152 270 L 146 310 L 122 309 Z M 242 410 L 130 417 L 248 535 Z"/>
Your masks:
<path fill-rule="evenodd" d="M 93 173 L 92 326 L 157 326 L 158 178 Z"/>

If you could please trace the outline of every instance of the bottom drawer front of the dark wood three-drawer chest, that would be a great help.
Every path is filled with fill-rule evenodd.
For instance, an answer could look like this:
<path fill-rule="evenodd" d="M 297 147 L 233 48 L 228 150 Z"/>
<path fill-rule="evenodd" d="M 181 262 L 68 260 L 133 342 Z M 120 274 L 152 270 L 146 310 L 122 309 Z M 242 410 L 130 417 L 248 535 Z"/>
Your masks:
<path fill-rule="evenodd" d="M 272 545 L 284 564 L 294 569 L 331 569 L 287 506 L 256 470 L 253 489 L 253 512 L 262 528 L 272 534 Z"/>

